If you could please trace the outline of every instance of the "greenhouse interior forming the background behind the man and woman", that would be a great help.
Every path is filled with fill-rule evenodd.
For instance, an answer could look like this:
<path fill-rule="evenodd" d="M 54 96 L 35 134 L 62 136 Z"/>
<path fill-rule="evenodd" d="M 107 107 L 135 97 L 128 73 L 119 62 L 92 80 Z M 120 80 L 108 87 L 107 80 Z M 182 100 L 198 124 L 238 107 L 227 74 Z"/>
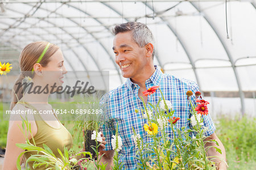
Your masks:
<path fill-rule="evenodd" d="M 113 33 L 115 26 L 129 22 L 143 23 L 152 32 L 155 40 L 153 62 L 160 72 L 198 84 L 201 99 L 209 103 L 207 114 L 216 126 L 215 133 L 225 147 L 228 169 L 255 169 L 254 0 L 0 0 L 0 169 L 8 167 L 4 165 L 4 158 L 9 140 L 9 120 L 4 114 L 6 108 L 10 107 L 11 92 L 18 75 L 21 71 L 31 71 L 20 70 L 19 57 L 25 46 L 36 41 L 47 41 L 59 46 L 67 70 L 63 78 L 65 86 L 74 86 L 79 78 L 81 82 L 93 84 L 97 95 L 90 96 L 90 99 L 101 99 L 109 91 L 123 87 L 130 80 L 123 76 L 122 69 L 117 64 L 117 54 L 113 52 L 113 49 L 117 49 L 113 47 L 118 35 Z M 47 48 L 44 51 L 47 53 Z M 8 63 L 10 70 L 5 73 L 3 67 L 8 67 Z M 49 100 L 64 103 L 70 102 L 72 97 L 72 94 L 51 94 Z M 77 97 L 77 100 L 84 98 Z M 65 105 L 60 104 L 58 107 Z M 125 109 L 119 109 L 120 112 L 123 110 Z M 77 124 L 72 120 L 65 121 L 63 118 L 61 123 L 73 136 L 72 152 L 80 151 L 84 140 L 81 138 L 82 130 L 77 132 Z M 127 146 L 132 143 L 125 139 L 123 138 L 123 147 L 119 151 L 123 155 L 128 150 L 126 143 Z M 106 141 L 108 143 L 107 139 Z M 72 152 L 69 151 L 69 154 Z M 115 155 L 118 155 L 118 150 Z M 113 169 L 133 169 L 127 165 L 129 163 L 124 163 L 122 167 L 120 162 L 125 162 L 126 158 L 119 155 L 115 158 L 115 155 Z M 160 158 L 153 157 L 151 161 L 155 164 L 152 163 L 152 167 L 148 161 L 145 168 L 142 161 L 143 165 L 139 169 L 182 169 L 182 166 L 184 169 L 196 169 L 198 165 L 195 163 L 196 165 L 189 167 L 188 161 L 186 167 L 180 164 L 182 160 L 179 159 L 177 163 L 171 161 L 171 167 L 162 165 L 161 168 L 156 161 Z M 17 158 L 18 156 L 13 156 L 15 166 Z M 118 158 L 120 167 L 118 161 L 115 162 Z M 127 157 L 127 162 L 128 159 L 131 158 Z M 87 160 L 87 163 L 90 161 Z M 99 168 L 97 159 L 94 163 L 96 166 L 86 168 L 104 169 Z M 198 169 L 208 169 L 207 165 L 200 165 Z M 79 168 L 85 169 L 82 165 Z M 22 169 L 29 168 L 23 164 Z"/>

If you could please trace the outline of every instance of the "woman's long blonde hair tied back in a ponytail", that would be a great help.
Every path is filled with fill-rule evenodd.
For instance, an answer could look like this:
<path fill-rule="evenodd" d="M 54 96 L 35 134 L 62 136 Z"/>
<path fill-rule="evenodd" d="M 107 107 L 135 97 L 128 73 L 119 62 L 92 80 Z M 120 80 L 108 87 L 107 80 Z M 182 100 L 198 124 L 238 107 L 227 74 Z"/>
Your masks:
<path fill-rule="evenodd" d="M 36 61 L 38 61 L 38 58 L 43 53 L 43 50 L 46 48 L 47 44 L 49 42 L 46 41 L 37 41 L 37 42 L 31 42 L 25 48 L 22 50 L 19 56 L 19 67 L 20 67 L 20 75 L 16 82 L 14 83 L 13 90 L 11 92 L 11 104 L 10 104 L 10 110 L 12 110 L 22 97 L 23 97 L 23 88 L 19 88 L 18 92 L 16 92 L 19 84 L 22 83 L 22 80 L 25 76 L 30 76 L 31 78 L 34 77 L 34 73 L 32 73 L 32 69 L 34 68 L 34 65 Z M 43 67 L 46 67 L 49 58 L 57 52 L 59 49 L 59 46 L 50 44 L 49 48 L 47 49 L 46 53 L 44 54 L 42 60 L 39 62 L 40 65 Z M 15 94 L 16 92 L 16 94 Z"/>

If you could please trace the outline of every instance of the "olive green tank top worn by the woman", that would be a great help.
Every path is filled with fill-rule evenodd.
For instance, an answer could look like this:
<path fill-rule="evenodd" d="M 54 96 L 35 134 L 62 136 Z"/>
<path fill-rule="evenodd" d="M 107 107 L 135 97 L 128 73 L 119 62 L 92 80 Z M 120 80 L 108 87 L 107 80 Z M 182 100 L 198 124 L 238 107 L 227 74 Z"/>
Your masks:
<path fill-rule="evenodd" d="M 26 107 L 30 108 L 30 109 L 34 109 L 37 113 L 38 110 L 33 107 L 31 104 L 27 103 L 26 101 L 18 101 L 17 104 L 23 104 Z M 56 117 L 55 113 L 53 113 L 54 116 Z M 53 154 L 56 156 L 56 158 L 61 158 L 59 152 L 57 151 L 57 148 L 59 148 L 59 150 L 64 153 L 64 146 L 68 148 L 68 150 L 71 148 L 72 146 L 72 135 L 69 133 L 69 131 L 60 123 L 59 119 L 57 118 L 57 120 L 60 123 L 60 128 L 53 128 L 51 126 L 49 126 L 47 124 L 47 122 L 45 122 L 43 120 L 43 118 L 40 116 L 40 114 L 33 114 L 34 118 L 35 118 L 35 123 L 36 126 L 38 128 L 38 131 L 36 133 L 36 135 L 34 136 L 34 140 L 35 140 L 35 144 L 37 147 L 42 147 L 43 148 L 43 143 L 45 145 L 47 145 L 53 152 Z M 30 143 L 34 143 L 32 141 L 32 139 L 30 139 Z M 38 154 L 37 152 L 26 152 L 24 154 L 26 160 L 30 157 L 30 155 L 34 155 L 34 154 Z M 41 154 L 41 153 L 39 153 Z M 30 166 L 31 169 L 32 165 L 34 162 L 28 162 L 28 165 Z M 49 166 L 47 167 L 49 168 Z M 39 169 L 46 169 L 46 167 L 37 167 L 35 168 L 36 170 Z"/>

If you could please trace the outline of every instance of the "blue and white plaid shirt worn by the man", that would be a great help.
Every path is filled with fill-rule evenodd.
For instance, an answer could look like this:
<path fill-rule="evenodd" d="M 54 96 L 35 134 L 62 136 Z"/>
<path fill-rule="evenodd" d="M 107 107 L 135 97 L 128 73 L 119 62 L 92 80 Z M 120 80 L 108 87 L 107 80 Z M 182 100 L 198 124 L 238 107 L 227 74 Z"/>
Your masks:
<path fill-rule="evenodd" d="M 179 79 L 169 74 L 163 74 L 157 66 L 155 68 L 154 74 L 146 80 L 146 88 L 160 86 L 159 88 L 163 92 L 165 99 L 170 100 L 172 103 L 172 110 L 175 111 L 174 116 L 180 117 L 180 120 L 176 123 L 177 128 L 183 126 L 189 128 L 191 125 L 187 118 L 191 117 L 191 113 L 189 112 L 191 107 L 190 105 L 188 107 L 186 92 L 191 90 L 195 94 L 196 91 L 199 91 L 199 87 L 191 80 Z M 104 102 L 108 103 L 107 113 L 111 120 L 109 121 L 108 127 L 107 125 L 102 126 L 102 133 L 106 137 L 105 150 L 112 150 L 111 139 L 112 135 L 115 134 L 115 128 L 118 122 L 118 134 L 122 138 L 122 150 L 119 151 L 119 161 L 123 163 L 123 169 L 136 169 L 138 163 L 138 160 L 134 158 L 136 148 L 131 137 L 134 134 L 133 128 L 137 134 L 140 134 L 142 138 L 146 139 L 146 132 L 143 129 L 143 125 L 147 122 L 142 118 L 143 113 L 141 112 L 141 108 L 143 108 L 143 103 L 138 96 L 138 90 L 138 84 L 127 79 L 121 86 L 105 95 Z M 159 90 L 148 96 L 147 108 L 150 107 L 148 103 L 157 103 L 159 97 L 162 97 Z M 195 100 L 193 95 L 192 103 L 195 103 Z M 138 109 L 139 112 L 135 113 L 135 109 Z M 208 116 L 203 116 L 203 118 L 204 126 L 209 128 L 205 135 L 213 134 L 216 128 L 212 118 L 210 118 L 209 114 Z M 167 133 L 172 134 L 171 128 L 167 128 Z"/>

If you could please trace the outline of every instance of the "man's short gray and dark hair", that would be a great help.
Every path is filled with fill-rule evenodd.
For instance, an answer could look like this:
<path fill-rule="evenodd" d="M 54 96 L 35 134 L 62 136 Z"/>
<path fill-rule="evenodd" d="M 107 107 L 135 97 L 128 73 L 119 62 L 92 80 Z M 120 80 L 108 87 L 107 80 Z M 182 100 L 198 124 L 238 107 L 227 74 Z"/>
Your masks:
<path fill-rule="evenodd" d="M 123 23 L 119 25 L 115 25 L 114 29 L 112 30 L 114 35 L 117 35 L 120 32 L 133 32 L 133 40 L 141 47 L 147 45 L 148 43 L 153 44 L 154 50 L 152 53 L 152 58 L 155 56 L 155 39 L 152 35 L 150 29 L 148 29 L 146 24 L 139 23 L 139 22 L 129 22 Z"/>

